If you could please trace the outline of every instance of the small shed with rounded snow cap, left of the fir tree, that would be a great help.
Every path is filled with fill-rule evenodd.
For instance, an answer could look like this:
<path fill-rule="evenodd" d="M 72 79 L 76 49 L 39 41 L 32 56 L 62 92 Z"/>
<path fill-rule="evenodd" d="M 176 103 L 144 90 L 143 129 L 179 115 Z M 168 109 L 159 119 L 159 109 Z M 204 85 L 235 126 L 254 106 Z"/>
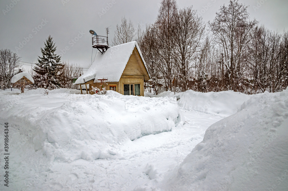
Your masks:
<path fill-rule="evenodd" d="M 34 79 L 28 72 L 20 72 L 12 77 L 11 83 L 12 87 L 21 87 L 21 93 L 24 93 L 25 85 L 33 84 Z"/>

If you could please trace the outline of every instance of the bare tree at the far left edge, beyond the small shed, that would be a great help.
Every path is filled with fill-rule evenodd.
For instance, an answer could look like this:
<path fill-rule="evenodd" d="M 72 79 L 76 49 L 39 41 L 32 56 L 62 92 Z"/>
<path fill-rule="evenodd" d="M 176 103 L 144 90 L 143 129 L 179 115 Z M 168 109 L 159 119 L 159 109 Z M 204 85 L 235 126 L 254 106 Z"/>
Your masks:
<path fill-rule="evenodd" d="M 20 57 L 10 49 L 0 50 L 0 85 L 2 89 L 10 88 L 11 78 L 21 69 Z"/>

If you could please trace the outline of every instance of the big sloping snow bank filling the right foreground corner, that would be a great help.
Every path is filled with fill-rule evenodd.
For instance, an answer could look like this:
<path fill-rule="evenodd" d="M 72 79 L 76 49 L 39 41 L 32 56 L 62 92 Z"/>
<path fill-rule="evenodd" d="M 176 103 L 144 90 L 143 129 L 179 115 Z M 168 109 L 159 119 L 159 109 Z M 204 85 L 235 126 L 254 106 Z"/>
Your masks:
<path fill-rule="evenodd" d="M 287 137 L 288 88 L 253 96 L 239 112 L 211 125 L 164 180 L 135 190 L 286 191 Z"/>

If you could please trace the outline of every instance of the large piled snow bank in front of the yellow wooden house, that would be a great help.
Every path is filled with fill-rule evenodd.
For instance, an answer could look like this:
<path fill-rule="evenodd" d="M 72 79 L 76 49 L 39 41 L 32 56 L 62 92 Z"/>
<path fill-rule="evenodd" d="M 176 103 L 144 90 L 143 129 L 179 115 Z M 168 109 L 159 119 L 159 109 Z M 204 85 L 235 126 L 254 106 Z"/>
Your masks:
<path fill-rule="evenodd" d="M 61 91 L 67 92 L 36 89 L 1 96 L 0 101 L 1 118 L 52 161 L 121 157 L 125 151 L 119 145 L 169 131 L 181 121 L 173 98 L 123 96 L 114 91 L 104 96 L 58 93 Z"/>

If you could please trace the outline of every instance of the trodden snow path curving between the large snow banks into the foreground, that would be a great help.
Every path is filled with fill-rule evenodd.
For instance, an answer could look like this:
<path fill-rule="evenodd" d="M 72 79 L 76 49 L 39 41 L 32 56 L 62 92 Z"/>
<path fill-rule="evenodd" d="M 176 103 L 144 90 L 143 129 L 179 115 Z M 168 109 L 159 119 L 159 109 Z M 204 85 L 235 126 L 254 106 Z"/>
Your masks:
<path fill-rule="evenodd" d="M 25 155 L 19 148 L 13 149 L 11 153 L 21 152 L 22 155 L 11 156 L 15 161 L 11 162 L 12 175 L 15 176 L 11 179 L 12 188 L 133 190 L 161 173 L 173 170 L 202 141 L 207 127 L 222 119 L 200 112 L 183 113 L 186 119 L 194 122 L 175 131 L 148 135 L 123 145 L 129 152 L 122 159 L 97 159 L 90 162 L 78 159 L 72 163 L 50 163 L 42 153 Z M 33 148 L 27 151 L 31 152 Z"/>

